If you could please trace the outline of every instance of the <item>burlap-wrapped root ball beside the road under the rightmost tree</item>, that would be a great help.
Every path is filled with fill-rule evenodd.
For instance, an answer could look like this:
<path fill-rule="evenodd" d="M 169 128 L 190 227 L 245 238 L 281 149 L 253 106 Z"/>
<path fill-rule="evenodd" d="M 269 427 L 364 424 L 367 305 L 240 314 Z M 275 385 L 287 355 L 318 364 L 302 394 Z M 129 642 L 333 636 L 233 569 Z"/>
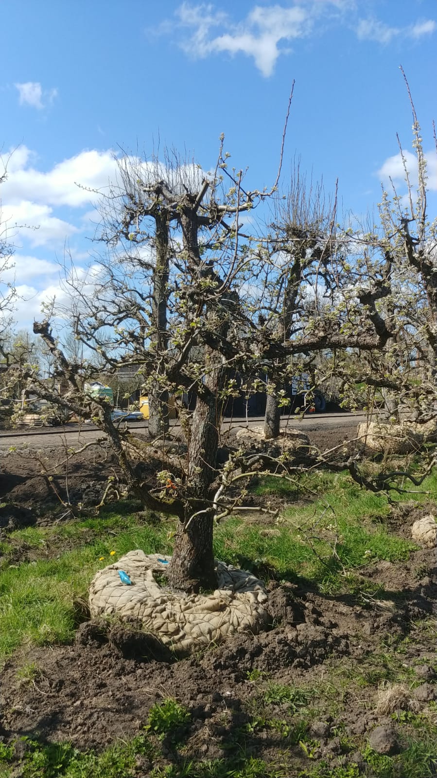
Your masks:
<path fill-rule="evenodd" d="M 411 454 L 423 443 L 435 439 L 436 429 L 433 421 L 425 424 L 362 422 L 358 424 L 357 436 L 372 451 L 381 454 Z"/>

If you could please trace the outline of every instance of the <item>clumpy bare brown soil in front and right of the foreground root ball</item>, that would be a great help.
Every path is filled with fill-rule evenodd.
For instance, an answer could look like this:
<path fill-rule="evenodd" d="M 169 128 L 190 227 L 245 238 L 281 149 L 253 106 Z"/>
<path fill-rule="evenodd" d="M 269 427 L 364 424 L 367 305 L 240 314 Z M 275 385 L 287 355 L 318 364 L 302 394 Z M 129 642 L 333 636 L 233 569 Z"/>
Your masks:
<path fill-rule="evenodd" d="M 268 762 L 283 747 L 283 734 L 267 725 L 251 732 L 251 722 L 264 717 L 292 725 L 302 717 L 301 707 L 313 710 L 303 726 L 313 733 L 320 757 L 340 758 L 345 752 L 339 733 L 369 736 L 376 726 L 393 725 L 390 715 L 376 710 L 372 682 L 363 682 L 359 696 L 356 687 L 360 673 L 379 673 L 382 680 L 398 673 L 381 658 L 384 641 L 393 653 L 405 644 L 401 664 L 411 673 L 409 685 L 418 689 L 419 707 L 437 699 L 435 633 L 428 640 L 422 633 L 415 637 L 417 624 L 437 612 L 435 551 L 417 552 L 402 565 L 379 562 L 362 569 L 363 590 L 365 580 L 375 578 L 384 587 L 380 600 L 365 594 L 358 601 L 323 597 L 271 582 L 270 632 L 234 636 L 180 661 L 135 624 L 83 622 L 74 644 L 22 650 L 6 663 L 0 734 L 6 741 L 26 735 L 101 750 L 138 734 L 151 706 L 174 697 L 191 713 L 187 753 L 191 749 L 197 758 L 222 757 L 242 729 L 245 748 Z M 17 671 L 26 661 L 37 672 L 23 681 Z M 350 679 L 349 689 L 346 684 L 336 690 L 336 678 L 342 684 Z M 330 702 L 321 693 L 323 682 L 334 689 Z M 303 697 L 295 703 L 269 697 L 272 683 L 303 689 Z M 305 761 L 302 753 L 299 759 Z"/>

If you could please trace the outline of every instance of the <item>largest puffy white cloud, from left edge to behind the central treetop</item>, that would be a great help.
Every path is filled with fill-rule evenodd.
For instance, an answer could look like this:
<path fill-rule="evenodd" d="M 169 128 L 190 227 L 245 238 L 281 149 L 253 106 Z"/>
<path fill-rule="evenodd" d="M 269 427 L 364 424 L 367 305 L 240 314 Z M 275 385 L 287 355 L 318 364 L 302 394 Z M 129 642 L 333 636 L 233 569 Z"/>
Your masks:
<path fill-rule="evenodd" d="M 120 170 L 149 181 L 163 178 L 175 191 L 184 191 L 184 184 L 197 187 L 208 173 L 198 165 L 187 163 L 167 169 L 162 163 L 144 162 L 135 156 L 114 157 L 110 149 L 79 152 L 54 165 L 51 170 L 37 170 L 37 155 L 25 145 L 0 155 L 0 169 L 8 166 L 8 178 L 2 184 L 0 221 L 9 240 L 26 240 L 32 247 L 58 242 L 61 253 L 68 237 L 87 231 L 89 237 L 100 223 L 100 195 L 117 192 Z M 122 176 L 123 177 L 123 176 Z M 79 184 L 79 185 L 78 185 Z M 91 208 L 89 206 L 92 206 Z M 59 209 L 64 209 L 60 212 Z M 80 209 L 77 219 L 68 210 Z M 74 223 L 71 223 L 74 221 Z M 30 229 L 24 229 L 24 228 Z"/>

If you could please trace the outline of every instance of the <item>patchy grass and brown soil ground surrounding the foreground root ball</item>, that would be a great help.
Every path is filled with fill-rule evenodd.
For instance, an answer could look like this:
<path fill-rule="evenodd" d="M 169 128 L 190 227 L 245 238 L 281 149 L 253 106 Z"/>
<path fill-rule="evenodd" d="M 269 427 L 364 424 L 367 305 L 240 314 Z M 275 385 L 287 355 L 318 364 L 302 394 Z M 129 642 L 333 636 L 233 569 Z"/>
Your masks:
<path fill-rule="evenodd" d="M 223 521 L 215 555 L 265 581 L 271 629 L 177 659 L 87 606 L 111 559 L 171 553 L 173 522 L 128 500 L 65 515 L 54 457 L 3 459 L 1 778 L 437 776 L 435 549 L 411 541 L 435 475 L 391 502 L 346 472 L 254 482 L 252 505 L 278 515 Z M 86 506 L 111 468 L 87 450 L 70 496 Z"/>

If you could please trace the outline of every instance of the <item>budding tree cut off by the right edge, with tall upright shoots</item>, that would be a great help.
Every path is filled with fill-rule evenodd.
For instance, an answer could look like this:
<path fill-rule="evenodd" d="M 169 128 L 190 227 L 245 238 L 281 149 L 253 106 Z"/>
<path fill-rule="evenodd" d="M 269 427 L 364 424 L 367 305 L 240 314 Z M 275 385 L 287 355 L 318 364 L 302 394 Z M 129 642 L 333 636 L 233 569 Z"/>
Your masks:
<path fill-rule="evenodd" d="M 411 100 L 409 89 L 408 94 Z M 343 371 L 352 394 L 354 384 L 369 387 L 370 405 L 372 398 L 383 400 L 385 415 L 393 421 L 425 424 L 437 411 L 437 220 L 428 212 L 427 160 L 412 100 L 411 109 L 415 170 L 408 170 L 398 138 L 406 194 L 391 182 L 391 195 L 382 192 L 379 224 L 370 221 L 349 243 L 355 275 L 349 294 L 369 279 L 376 282 L 383 292 L 378 310 L 391 335 L 382 349 L 357 354 L 355 363 L 342 366 L 339 361 L 336 370 Z"/>

